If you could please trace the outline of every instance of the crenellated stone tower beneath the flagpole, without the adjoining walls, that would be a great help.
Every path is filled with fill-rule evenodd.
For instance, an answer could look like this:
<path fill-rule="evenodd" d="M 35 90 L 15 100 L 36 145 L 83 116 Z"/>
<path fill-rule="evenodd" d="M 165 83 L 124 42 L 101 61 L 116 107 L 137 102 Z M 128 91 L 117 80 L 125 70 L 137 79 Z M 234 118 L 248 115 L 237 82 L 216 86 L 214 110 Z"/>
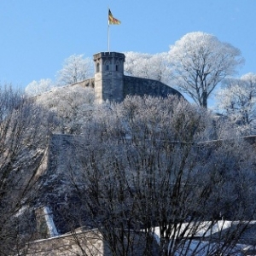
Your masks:
<path fill-rule="evenodd" d="M 101 52 L 93 55 L 95 61 L 95 99 L 122 102 L 124 99 L 125 55 L 117 52 Z"/>

